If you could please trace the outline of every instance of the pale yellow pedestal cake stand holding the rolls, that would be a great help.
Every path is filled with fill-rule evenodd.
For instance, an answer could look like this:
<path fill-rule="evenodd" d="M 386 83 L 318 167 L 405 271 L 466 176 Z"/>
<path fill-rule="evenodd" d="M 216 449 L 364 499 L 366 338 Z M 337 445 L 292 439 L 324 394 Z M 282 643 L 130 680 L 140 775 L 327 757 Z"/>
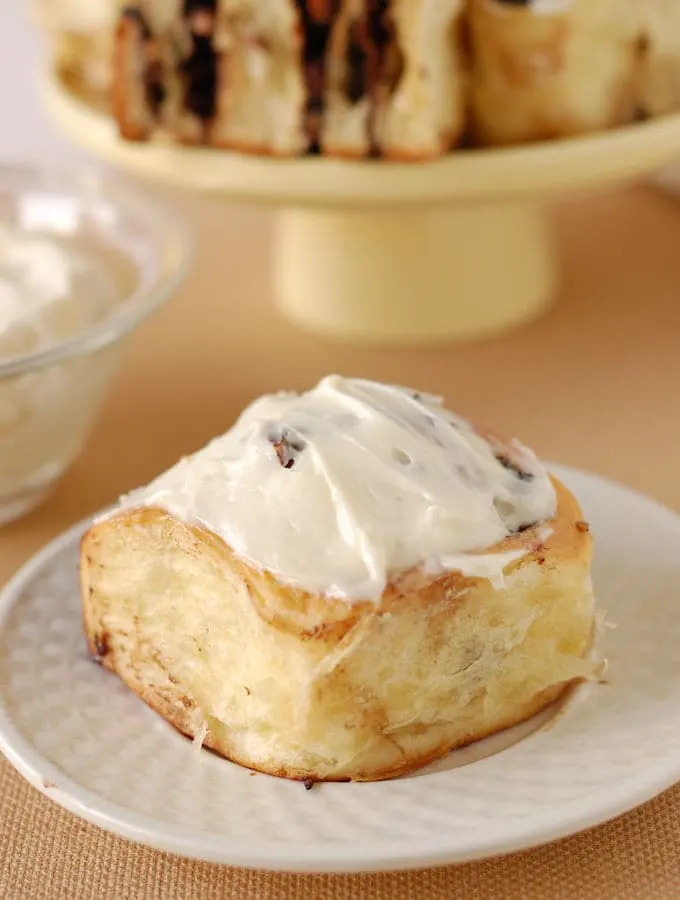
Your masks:
<path fill-rule="evenodd" d="M 593 137 L 454 153 L 429 164 L 272 160 L 122 141 L 53 74 L 45 105 L 95 156 L 139 176 L 277 209 L 281 312 L 317 333 L 434 341 L 499 333 L 557 293 L 545 220 L 559 194 L 624 182 L 680 157 L 680 114 Z"/>

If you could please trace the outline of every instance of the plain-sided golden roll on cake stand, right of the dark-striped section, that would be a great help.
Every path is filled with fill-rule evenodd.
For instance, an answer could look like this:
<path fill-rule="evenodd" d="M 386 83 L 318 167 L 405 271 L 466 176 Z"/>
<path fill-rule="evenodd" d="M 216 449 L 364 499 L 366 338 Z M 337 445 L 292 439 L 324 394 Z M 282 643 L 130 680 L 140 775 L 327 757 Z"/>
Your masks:
<path fill-rule="evenodd" d="M 631 121 L 635 20 L 620 0 L 471 0 L 475 139 L 524 143 Z"/>

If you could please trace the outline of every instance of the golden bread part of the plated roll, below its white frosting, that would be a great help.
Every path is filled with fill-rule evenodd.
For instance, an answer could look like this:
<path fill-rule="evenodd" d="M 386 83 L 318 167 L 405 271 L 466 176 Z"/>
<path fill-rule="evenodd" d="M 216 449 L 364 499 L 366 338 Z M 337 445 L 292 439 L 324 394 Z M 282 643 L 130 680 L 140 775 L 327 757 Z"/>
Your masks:
<path fill-rule="evenodd" d="M 555 518 L 490 548 L 525 551 L 502 587 L 410 570 L 377 603 L 285 586 L 162 510 L 120 512 L 82 541 L 90 652 L 244 766 L 312 780 L 403 774 L 597 673 L 591 536 L 554 484 Z"/>

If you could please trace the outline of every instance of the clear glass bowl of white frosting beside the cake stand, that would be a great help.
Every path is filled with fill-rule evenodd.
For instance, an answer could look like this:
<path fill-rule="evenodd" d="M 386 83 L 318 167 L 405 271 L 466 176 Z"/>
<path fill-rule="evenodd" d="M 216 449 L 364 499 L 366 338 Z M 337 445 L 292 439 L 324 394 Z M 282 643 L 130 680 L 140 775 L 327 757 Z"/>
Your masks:
<path fill-rule="evenodd" d="M 8 234 L 21 248 L 13 259 L 0 246 L 0 524 L 40 503 L 80 454 L 125 338 L 172 296 L 192 255 L 174 213 L 91 169 L 0 165 L 0 239 Z M 65 281 L 49 263 L 55 252 L 68 261 Z M 19 271 L 36 290 L 65 284 L 66 294 L 22 319 L 34 307 L 8 280 Z M 12 320 L 18 296 L 27 299 Z"/>

